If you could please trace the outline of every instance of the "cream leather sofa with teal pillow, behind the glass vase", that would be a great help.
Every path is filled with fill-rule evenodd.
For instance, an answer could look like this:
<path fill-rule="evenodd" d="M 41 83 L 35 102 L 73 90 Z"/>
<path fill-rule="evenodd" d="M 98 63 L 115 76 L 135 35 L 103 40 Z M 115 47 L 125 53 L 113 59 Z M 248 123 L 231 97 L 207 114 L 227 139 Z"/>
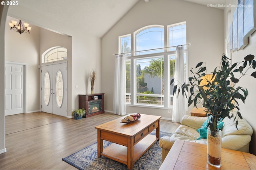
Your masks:
<path fill-rule="evenodd" d="M 177 139 L 191 141 L 195 143 L 207 144 L 207 139 L 198 139 L 200 134 L 196 131 L 202 126 L 207 117 L 196 117 L 185 115 L 182 117 L 181 125 L 176 129 L 171 137 L 162 137 L 159 145 L 162 148 L 162 161 L 170 151 L 174 141 Z M 238 130 L 234 122 L 234 117 L 223 119 L 222 147 L 226 149 L 249 152 L 249 143 L 252 136 L 252 127 L 245 119 L 238 120 Z M 198 139 L 198 140 L 197 140 Z"/>

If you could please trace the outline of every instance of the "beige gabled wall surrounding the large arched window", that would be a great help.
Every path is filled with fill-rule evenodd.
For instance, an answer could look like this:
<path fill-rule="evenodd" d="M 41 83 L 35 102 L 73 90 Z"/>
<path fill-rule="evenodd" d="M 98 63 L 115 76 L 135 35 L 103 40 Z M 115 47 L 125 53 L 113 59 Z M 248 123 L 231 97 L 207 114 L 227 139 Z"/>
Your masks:
<path fill-rule="evenodd" d="M 153 24 L 170 25 L 186 21 L 188 68 L 206 62 L 208 71 L 219 65 L 224 53 L 223 10 L 182 0 L 140 0 L 108 33 L 102 37 L 102 92 L 106 93 L 105 109 L 113 110 L 114 59 L 118 53 L 118 36 Z M 190 74 L 189 74 L 190 75 Z M 127 112 L 160 115 L 170 119 L 168 108 L 127 107 Z M 190 107 L 188 111 L 192 109 Z M 188 114 L 188 113 L 187 113 Z"/>

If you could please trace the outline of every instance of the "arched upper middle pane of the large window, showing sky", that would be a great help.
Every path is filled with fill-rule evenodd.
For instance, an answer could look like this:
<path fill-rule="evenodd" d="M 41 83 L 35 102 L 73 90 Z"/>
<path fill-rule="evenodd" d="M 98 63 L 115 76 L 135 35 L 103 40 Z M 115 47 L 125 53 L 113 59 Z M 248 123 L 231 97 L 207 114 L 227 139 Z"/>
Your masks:
<path fill-rule="evenodd" d="M 151 27 L 136 33 L 136 51 L 157 49 L 164 47 L 164 28 Z M 136 55 L 164 52 L 164 49 L 137 52 Z"/>

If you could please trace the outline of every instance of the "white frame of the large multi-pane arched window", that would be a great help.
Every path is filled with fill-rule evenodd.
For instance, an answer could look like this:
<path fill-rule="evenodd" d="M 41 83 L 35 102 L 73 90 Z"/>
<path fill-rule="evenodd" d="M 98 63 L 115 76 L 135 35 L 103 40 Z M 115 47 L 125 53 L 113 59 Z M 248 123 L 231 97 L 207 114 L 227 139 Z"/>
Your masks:
<path fill-rule="evenodd" d="M 134 51 L 134 49 L 136 49 L 136 33 L 138 33 L 139 31 L 143 31 L 145 29 L 151 28 L 151 27 L 164 28 L 164 44 L 167 44 L 167 45 L 164 45 L 164 47 L 169 47 L 169 27 L 177 26 L 177 25 L 181 25 L 181 24 L 186 24 L 186 21 L 167 25 L 167 27 L 163 26 L 163 25 L 148 25 L 148 26 L 138 29 L 134 33 L 119 36 L 119 43 L 118 43 L 119 53 L 122 53 L 122 49 L 121 49 L 122 48 L 121 47 L 122 37 L 130 36 L 130 39 L 131 39 L 131 48 L 130 48 L 131 53 L 125 54 L 126 61 L 128 61 L 128 60 L 130 61 L 130 94 L 129 94 L 130 102 L 126 102 L 127 106 L 172 109 L 173 106 L 170 105 L 171 104 L 170 101 L 171 101 L 171 97 L 173 95 L 170 94 L 170 57 L 169 56 L 175 55 L 176 51 L 169 51 L 169 48 L 164 48 L 165 49 L 164 52 L 136 55 L 136 51 Z M 187 29 L 187 25 L 186 25 L 186 29 Z M 186 37 L 187 37 L 187 34 L 186 34 Z M 187 41 L 187 38 L 186 38 L 186 41 Z M 185 44 L 186 43 L 184 43 L 182 45 L 185 45 Z M 185 59 L 184 63 L 186 64 L 185 80 L 187 82 L 188 81 L 187 80 L 187 78 L 188 78 L 188 48 L 184 49 L 184 54 L 186 54 L 186 59 Z M 159 56 L 163 56 L 163 58 L 164 58 L 164 77 L 167 77 L 164 79 L 164 87 L 168 87 L 168 88 L 167 89 L 164 88 L 164 94 L 162 94 L 163 98 L 164 98 L 164 105 L 158 106 L 158 105 L 152 105 L 152 104 L 137 104 L 136 103 L 136 96 L 137 96 L 137 94 L 136 94 L 136 60 L 150 58 L 150 57 L 159 57 Z M 187 108 L 188 107 L 186 106 L 186 109 Z"/>

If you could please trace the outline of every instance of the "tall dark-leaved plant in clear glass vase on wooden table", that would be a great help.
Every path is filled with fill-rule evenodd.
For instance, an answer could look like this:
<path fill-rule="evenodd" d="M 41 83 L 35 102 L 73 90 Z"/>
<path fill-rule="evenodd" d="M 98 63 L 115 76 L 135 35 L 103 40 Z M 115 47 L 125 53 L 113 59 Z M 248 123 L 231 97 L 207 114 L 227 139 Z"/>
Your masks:
<path fill-rule="evenodd" d="M 193 68 L 190 70 L 192 76 L 188 78 L 189 82 L 178 83 L 174 85 L 173 94 L 176 93 L 178 96 L 180 92 L 182 95 L 187 97 L 187 92 L 190 92 L 188 98 L 188 106 L 194 104 L 194 107 L 198 103 L 201 103 L 203 107 L 206 108 L 206 114 L 208 116 L 208 155 L 207 161 L 213 166 L 221 166 L 221 131 L 218 126 L 218 123 L 222 121 L 225 117 L 231 118 L 233 116 L 236 120 L 236 128 L 238 125 L 238 119 L 242 119 L 240 113 L 238 100 L 244 102 L 248 96 L 248 90 L 240 86 L 235 87 L 239 82 L 240 78 L 246 75 L 251 75 L 256 78 L 256 72 L 252 74 L 246 74 L 248 70 L 256 68 L 256 61 L 254 60 L 254 55 L 247 55 L 244 57 L 244 61 L 240 63 L 230 63 L 230 59 L 226 55 L 222 55 L 220 66 L 216 67 L 212 71 L 212 76 L 209 80 L 206 80 L 206 84 L 202 85 L 202 77 L 206 76 L 207 70 L 205 63 L 201 62 L 196 65 L 195 68 L 198 68 L 196 72 L 193 71 Z M 235 77 L 236 76 L 236 77 Z M 176 80 L 172 79 L 171 84 Z M 233 109 L 237 109 L 237 114 L 232 113 Z M 237 128 L 238 129 L 238 128 Z M 220 133 L 220 134 L 219 134 Z M 220 138 L 217 138 L 220 137 Z M 215 141 L 216 144 L 213 149 L 213 152 L 216 153 L 217 144 L 219 144 L 220 154 L 218 156 L 210 155 L 209 142 Z"/>

